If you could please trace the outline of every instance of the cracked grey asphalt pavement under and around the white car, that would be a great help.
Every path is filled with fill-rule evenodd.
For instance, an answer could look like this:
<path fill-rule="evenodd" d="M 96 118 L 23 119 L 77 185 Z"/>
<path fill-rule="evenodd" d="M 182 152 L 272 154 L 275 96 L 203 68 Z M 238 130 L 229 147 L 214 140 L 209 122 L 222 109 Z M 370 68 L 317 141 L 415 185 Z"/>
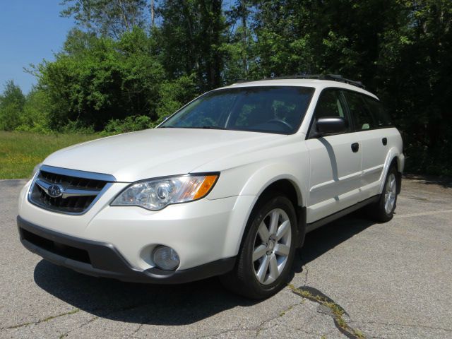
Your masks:
<path fill-rule="evenodd" d="M 48 263 L 18 240 L 23 184 L 0 181 L 0 338 L 347 338 L 289 287 L 252 302 L 215 278 L 138 285 Z M 331 298 L 365 338 L 452 338 L 451 182 L 404 179 L 391 222 L 365 217 L 308 234 L 290 283 Z"/>

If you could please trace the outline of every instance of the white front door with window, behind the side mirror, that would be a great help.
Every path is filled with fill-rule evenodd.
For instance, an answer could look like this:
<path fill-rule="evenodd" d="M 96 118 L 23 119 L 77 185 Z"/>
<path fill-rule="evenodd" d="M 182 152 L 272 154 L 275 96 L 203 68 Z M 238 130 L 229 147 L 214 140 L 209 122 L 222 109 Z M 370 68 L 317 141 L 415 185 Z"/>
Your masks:
<path fill-rule="evenodd" d="M 346 133 L 315 137 L 316 120 L 343 117 Z M 361 174 L 361 148 L 343 94 L 335 88 L 322 91 L 314 111 L 306 144 L 309 149 L 310 182 L 307 222 L 314 222 L 357 203 Z"/>

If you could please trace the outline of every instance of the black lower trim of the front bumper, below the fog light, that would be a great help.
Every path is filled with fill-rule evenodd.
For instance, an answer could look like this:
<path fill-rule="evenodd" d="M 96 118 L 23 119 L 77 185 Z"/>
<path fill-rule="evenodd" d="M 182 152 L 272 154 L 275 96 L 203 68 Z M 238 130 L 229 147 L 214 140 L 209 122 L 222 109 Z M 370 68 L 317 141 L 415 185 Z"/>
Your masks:
<path fill-rule="evenodd" d="M 234 268 L 235 257 L 205 263 L 186 270 L 158 268 L 136 270 L 112 244 L 95 242 L 47 230 L 17 217 L 20 242 L 42 258 L 95 277 L 133 283 L 180 284 L 222 275 Z"/>

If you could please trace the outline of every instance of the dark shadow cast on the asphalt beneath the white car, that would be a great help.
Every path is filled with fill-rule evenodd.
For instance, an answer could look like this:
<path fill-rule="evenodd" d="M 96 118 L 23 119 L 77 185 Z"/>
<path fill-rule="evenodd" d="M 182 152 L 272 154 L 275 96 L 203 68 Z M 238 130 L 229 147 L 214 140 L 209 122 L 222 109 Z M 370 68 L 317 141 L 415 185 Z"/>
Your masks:
<path fill-rule="evenodd" d="M 353 215 L 325 225 L 307 235 L 296 256 L 295 273 L 302 266 L 372 225 Z M 69 268 L 40 261 L 35 282 L 54 297 L 94 316 L 129 323 L 186 325 L 233 307 L 258 303 L 225 290 L 218 278 L 182 285 L 148 285 L 94 278 Z"/>

